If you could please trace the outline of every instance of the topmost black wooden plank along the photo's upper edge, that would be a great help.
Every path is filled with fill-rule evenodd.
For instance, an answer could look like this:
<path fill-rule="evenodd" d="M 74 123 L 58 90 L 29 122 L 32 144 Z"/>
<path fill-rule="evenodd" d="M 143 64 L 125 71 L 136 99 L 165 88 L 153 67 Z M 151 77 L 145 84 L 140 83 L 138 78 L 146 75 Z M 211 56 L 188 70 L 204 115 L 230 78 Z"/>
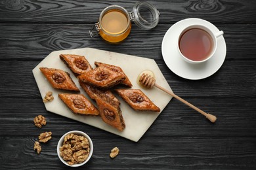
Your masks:
<path fill-rule="evenodd" d="M 2 1 L 0 22 L 96 23 L 100 12 L 110 5 L 131 11 L 137 1 Z M 160 11 L 160 22 L 203 18 L 215 24 L 255 23 L 256 2 L 244 1 L 149 1 Z M 245 12 L 246 11 L 246 12 Z"/>

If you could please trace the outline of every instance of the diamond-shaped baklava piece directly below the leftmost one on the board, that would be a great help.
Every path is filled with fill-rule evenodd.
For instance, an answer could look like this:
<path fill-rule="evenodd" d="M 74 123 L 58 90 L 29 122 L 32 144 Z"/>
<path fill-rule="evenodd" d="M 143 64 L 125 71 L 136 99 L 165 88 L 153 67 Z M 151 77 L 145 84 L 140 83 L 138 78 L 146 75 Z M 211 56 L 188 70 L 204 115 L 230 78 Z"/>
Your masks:
<path fill-rule="evenodd" d="M 98 116 L 98 109 L 83 94 L 61 93 L 58 97 L 74 112 L 75 114 Z"/>

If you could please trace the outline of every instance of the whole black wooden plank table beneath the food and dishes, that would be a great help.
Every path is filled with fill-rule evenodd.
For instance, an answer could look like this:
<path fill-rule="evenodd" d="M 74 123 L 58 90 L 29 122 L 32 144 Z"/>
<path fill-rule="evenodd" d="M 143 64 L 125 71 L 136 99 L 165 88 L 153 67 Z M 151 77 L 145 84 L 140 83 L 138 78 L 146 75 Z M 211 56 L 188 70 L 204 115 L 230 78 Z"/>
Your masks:
<path fill-rule="evenodd" d="M 91 160 L 77 169 L 255 169 L 256 168 L 256 1 L 150 1 L 161 13 L 155 29 L 133 24 L 121 44 L 91 39 L 88 30 L 102 9 L 137 1 L 0 0 L 0 169 L 68 169 L 57 156 L 58 139 L 85 131 L 93 139 Z M 163 61 L 161 41 L 171 25 L 202 18 L 224 31 L 226 59 L 202 80 L 175 75 Z M 97 48 L 155 59 L 172 90 L 217 116 L 201 114 L 172 99 L 138 143 L 47 112 L 32 69 L 54 50 Z M 41 129 L 33 118 L 42 114 Z M 33 150 L 39 133 L 53 139 Z M 118 146 L 120 154 L 109 157 Z"/>

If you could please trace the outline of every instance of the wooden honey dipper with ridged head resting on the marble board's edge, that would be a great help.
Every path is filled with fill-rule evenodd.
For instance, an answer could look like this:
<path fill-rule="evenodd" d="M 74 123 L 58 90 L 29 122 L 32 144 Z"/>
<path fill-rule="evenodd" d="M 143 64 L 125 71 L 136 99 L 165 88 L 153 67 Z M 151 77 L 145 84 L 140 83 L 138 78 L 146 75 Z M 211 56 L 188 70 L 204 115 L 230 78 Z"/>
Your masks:
<path fill-rule="evenodd" d="M 214 123 L 217 120 L 216 116 L 204 112 L 203 110 L 199 109 L 198 107 L 195 107 L 194 105 L 188 103 L 188 101 L 185 101 L 178 95 L 175 95 L 175 93 L 170 92 L 170 91 L 166 90 L 165 88 L 161 87 L 160 85 L 156 84 L 156 79 L 153 76 L 148 75 L 147 73 L 142 73 L 142 75 L 139 77 L 139 82 L 142 86 L 144 86 L 146 88 L 152 88 L 153 86 L 156 86 L 156 88 L 163 90 L 163 92 L 168 93 L 169 95 L 175 97 L 175 99 L 178 99 L 179 101 L 188 105 L 192 109 L 197 110 L 198 112 L 203 114 L 208 120 L 210 120 L 212 123 Z"/>

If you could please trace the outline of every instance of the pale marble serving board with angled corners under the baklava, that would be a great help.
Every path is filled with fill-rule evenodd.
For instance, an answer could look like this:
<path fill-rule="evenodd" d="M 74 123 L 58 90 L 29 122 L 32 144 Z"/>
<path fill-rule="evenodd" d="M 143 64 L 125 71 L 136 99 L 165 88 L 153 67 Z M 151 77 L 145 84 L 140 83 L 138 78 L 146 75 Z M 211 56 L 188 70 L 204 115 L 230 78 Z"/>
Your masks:
<path fill-rule="evenodd" d="M 66 65 L 59 58 L 60 54 L 77 54 L 81 56 L 85 56 L 85 58 L 89 61 L 93 68 L 95 68 L 94 62 L 100 61 L 102 63 L 108 63 L 111 65 L 117 65 L 123 69 L 125 74 L 129 77 L 133 84 L 133 88 L 139 88 L 144 92 L 148 97 L 158 106 L 160 107 L 160 112 L 139 112 L 131 109 L 121 97 L 116 97 L 119 99 L 121 105 L 121 110 L 123 114 L 123 119 L 125 120 L 125 129 L 123 131 L 118 131 L 112 126 L 104 123 L 100 116 L 83 116 L 78 114 L 73 114 L 68 107 L 58 98 L 58 93 L 72 93 L 65 90 L 56 90 L 52 88 L 51 84 L 47 81 L 45 76 L 39 70 L 39 67 L 49 67 L 55 69 L 62 69 L 68 73 L 74 80 L 75 84 L 80 90 L 80 93 L 88 95 L 84 92 L 84 90 L 79 86 L 79 82 L 77 78 L 74 76 L 72 71 L 66 67 Z M 97 50 L 95 48 L 79 48 L 74 50 L 60 50 L 54 51 L 49 54 L 43 61 L 41 61 L 34 69 L 33 76 L 37 82 L 37 86 L 41 93 L 42 99 L 45 97 L 45 93 L 51 91 L 53 92 L 54 100 L 45 103 L 45 108 L 49 112 L 53 112 L 56 114 L 60 114 L 67 118 L 71 118 L 72 120 L 77 120 L 79 122 L 83 122 L 90 126 L 95 126 L 104 131 L 109 131 L 110 133 L 114 133 L 121 137 L 125 137 L 130 139 L 131 141 L 139 141 L 139 139 L 144 135 L 147 129 L 154 123 L 154 120 L 160 115 L 162 110 L 171 100 L 171 96 L 167 95 L 167 93 L 158 90 L 157 88 L 146 89 L 137 84 L 137 76 L 144 70 L 151 70 L 154 72 L 156 76 L 156 82 L 171 91 L 171 88 L 167 81 L 165 80 L 163 74 L 161 73 L 156 61 L 154 59 L 141 58 L 137 56 L 130 56 L 126 54 L 119 54 L 115 52 L 108 52 L 104 50 Z M 89 98 L 89 97 L 88 97 Z M 42 101 L 43 102 L 43 101 Z M 93 101 L 95 104 L 95 102 Z M 95 104 L 96 105 L 96 104 Z"/>

